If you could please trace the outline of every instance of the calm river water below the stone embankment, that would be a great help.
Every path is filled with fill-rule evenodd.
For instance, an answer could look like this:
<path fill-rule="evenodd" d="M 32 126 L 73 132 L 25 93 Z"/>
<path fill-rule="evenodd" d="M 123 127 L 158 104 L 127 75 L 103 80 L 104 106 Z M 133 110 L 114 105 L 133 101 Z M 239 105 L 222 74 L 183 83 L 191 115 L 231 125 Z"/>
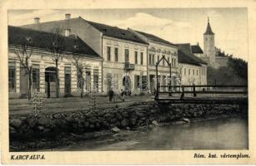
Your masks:
<path fill-rule="evenodd" d="M 150 131 L 126 131 L 53 150 L 248 149 L 248 121 L 222 118 Z"/>

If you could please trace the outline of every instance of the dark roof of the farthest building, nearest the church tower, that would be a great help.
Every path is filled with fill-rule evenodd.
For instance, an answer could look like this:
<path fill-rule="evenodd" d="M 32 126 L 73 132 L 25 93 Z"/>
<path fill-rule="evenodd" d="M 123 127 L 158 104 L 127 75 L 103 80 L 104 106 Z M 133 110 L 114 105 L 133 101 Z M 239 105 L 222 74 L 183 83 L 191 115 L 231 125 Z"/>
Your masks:
<path fill-rule="evenodd" d="M 189 43 L 185 44 L 177 44 L 178 45 L 178 62 L 180 63 L 188 63 L 193 65 L 207 64 L 205 61 L 198 58 L 198 56 L 194 56 L 191 51 L 191 46 Z"/>

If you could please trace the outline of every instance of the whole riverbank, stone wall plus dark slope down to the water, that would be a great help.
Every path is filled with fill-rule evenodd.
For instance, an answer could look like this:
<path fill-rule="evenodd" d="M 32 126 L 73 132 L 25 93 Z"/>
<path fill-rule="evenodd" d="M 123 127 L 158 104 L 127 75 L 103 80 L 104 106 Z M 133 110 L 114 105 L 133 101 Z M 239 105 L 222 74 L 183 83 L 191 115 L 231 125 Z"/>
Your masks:
<path fill-rule="evenodd" d="M 10 150 L 54 149 L 80 140 L 142 132 L 157 125 L 246 115 L 238 105 L 157 105 L 155 102 L 136 103 L 122 109 L 13 115 L 9 119 Z"/>

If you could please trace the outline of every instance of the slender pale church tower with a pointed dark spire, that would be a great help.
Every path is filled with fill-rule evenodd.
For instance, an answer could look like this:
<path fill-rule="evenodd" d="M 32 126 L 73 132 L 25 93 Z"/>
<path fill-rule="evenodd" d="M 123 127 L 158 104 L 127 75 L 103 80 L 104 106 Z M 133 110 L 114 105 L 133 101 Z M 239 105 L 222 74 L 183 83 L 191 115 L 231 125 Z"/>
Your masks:
<path fill-rule="evenodd" d="M 203 33 L 203 51 L 209 58 L 210 66 L 213 66 L 215 62 L 215 44 L 214 44 L 214 33 L 212 31 L 209 18 L 206 31 Z"/>

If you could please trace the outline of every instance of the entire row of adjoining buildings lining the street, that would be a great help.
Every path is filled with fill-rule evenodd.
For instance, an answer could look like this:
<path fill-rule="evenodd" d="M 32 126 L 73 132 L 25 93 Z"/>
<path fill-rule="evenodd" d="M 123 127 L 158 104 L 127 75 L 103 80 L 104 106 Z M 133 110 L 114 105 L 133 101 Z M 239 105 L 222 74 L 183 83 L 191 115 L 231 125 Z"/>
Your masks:
<path fill-rule="evenodd" d="M 28 64 L 32 69 L 32 91 L 47 97 L 56 97 L 56 63 L 53 61 L 53 30 L 58 28 L 65 43 L 63 56 L 58 61 L 59 92 L 61 96 L 79 95 L 78 68 L 73 64 L 74 56 L 83 63 L 84 90 L 107 93 L 113 90 L 130 90 L 152 93 L 156 85 L 156 63 L 161 85 L 206 85 L 207 62 L 199 45 L 173 44 L 153 34 L 134 29 L 121 29 L 91 22 L 82 17 L 54 22 L 40 22 L 36 17 L 33 24 L 8 27 L 9 97 L 28 95 L 28 74 L 18 58 L 24 42 L 31 52 Z M 209 23 L 208 23 L 209 25 Z M 207 30 L 208 31 L 208 30 Z M 75 53 L 74 53 L 75 51 Z M 24 53 L 24 52 L 23 52 Z M 164 88 L 163 88 L 164 89 Z"/>

